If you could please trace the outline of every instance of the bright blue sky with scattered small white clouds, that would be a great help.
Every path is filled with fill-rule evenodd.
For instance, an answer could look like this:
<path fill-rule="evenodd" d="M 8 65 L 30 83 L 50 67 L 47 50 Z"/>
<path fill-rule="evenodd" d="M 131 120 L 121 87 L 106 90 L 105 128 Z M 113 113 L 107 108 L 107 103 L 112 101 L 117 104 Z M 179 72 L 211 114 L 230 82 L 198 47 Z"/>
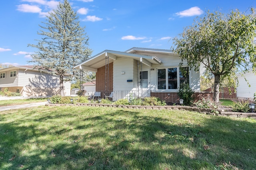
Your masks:
<path fill-rule="evenodd" d="M 0 63 L 31 65 L 29 54 L 45 15 L 63 0 L 3 0 L 0 5 Z M 207 10 L 228 13 L 256 8 L 256 0 L 69 0 L 86 27 L 92 56 L 132 47 L 170 49 L 172 38 Z"/>

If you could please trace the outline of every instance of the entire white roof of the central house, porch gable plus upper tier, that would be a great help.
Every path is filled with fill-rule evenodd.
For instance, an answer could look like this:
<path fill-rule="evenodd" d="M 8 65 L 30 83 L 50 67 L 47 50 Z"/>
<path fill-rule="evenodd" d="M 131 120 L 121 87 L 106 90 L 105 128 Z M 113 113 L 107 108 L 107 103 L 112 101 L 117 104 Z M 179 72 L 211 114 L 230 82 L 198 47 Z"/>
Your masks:
<path fill-rule="evenodd" d="M 148 53 L 148 55 L 135 54 L 135 53 L 145 53 L 145 52 Z M 106 57 L 108 57 L 109 63 L 112 63 L 113 61 L 115 61 L 117 57 L 122 57 L 122 58 L 129 58 L 129 59 L 140 61 L 143 64 L 146 64 L 148 66 L 151 66 L 152 64 L 160 65 L 162 64 L 162 61 L 160 61 L 154 55 L 154 54 L 160 54 L 160 53 L 168 54 L 168 55 L 174 54 L 171 50 L 146 49 L 146 48 L 137 48 L 137 47 L 129 49 L 125 52 L 105 50 L 91 57 L 90 59 L 87 59 L 86 61 L 74 66 L 74 68 L 97 72 L 98 68 L 106 65 Z"/>

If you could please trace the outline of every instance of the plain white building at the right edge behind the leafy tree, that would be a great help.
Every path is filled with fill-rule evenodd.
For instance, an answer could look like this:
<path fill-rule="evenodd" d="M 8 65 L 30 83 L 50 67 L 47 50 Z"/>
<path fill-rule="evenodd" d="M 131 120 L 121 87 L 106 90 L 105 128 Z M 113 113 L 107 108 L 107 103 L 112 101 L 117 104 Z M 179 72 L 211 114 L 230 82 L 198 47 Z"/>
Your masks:
<path fill-rule="evenodd" d="M 237 98 L 253 99 L 254 93 L 256 93 L 256 74 L 250 70 L 245 74 L 237 74 L 236 76 L 238 78 L 236 89 Z"/>

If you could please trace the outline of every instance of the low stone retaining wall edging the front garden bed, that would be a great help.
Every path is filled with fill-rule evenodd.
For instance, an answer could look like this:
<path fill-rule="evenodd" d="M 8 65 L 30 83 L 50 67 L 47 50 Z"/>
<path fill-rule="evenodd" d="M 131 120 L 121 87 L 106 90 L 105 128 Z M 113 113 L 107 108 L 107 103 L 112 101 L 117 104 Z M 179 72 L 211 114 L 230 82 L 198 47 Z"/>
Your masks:
<path fill-rule="evenodd" d="M 98 103 L 77 103 L 77 104 L 46 104 L 46 106 L 92 106 L 92 107 L 116 107 L 126 109 L 154 109 L 154 110 L 187 110 L 196 111 L 198 113 L 210 114 L 215 116 L 226 117 L 250 117 L 256 119 L 256 113 L 241 112 L 225 112 L 222 109 L 207 109 L 190 106 L 137 106 L 137 105 L 114 105 L 114 104 L 98 104 Z"/>

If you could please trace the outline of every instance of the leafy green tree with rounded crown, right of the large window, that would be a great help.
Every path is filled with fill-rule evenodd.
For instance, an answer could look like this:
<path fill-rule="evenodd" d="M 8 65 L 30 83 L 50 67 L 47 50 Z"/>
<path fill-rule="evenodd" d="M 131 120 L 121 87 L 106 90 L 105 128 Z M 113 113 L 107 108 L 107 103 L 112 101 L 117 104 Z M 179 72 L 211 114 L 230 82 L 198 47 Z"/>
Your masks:
<path fill-rule="evenodd" d="M 209 11 L 192 26 L 175 37 L 174 51 L 190 68 L 200 65 L 214 76 L 214 101 L 219 102 L 221 79 L 231 77 L 234 70 L 256 72 L 256 15 L 232 10 L 229 14 Z"/>

